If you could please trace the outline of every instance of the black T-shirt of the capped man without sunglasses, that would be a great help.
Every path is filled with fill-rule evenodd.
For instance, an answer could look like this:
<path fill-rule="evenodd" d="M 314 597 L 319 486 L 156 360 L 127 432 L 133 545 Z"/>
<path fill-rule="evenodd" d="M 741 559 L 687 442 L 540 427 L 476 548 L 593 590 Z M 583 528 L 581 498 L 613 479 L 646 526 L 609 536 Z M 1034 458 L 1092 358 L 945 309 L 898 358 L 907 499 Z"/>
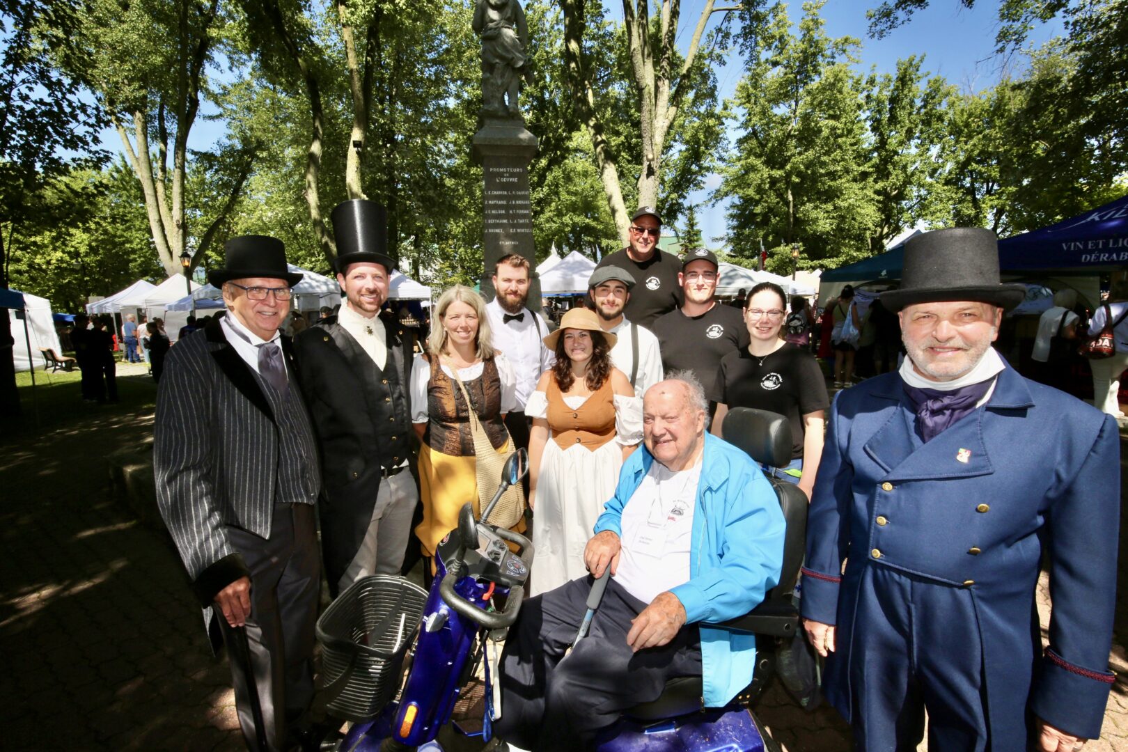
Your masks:
<path fill-rule="evenodd" d="M 748 347 L 749 342 L 743 315 L 720 303 L 700 316 L 672 310 L 654 321 L 651 330 L 662 353 L 662 371 L 693 371 L 705 388 L 705 396 L 714 401 L 721 359 Z"/>

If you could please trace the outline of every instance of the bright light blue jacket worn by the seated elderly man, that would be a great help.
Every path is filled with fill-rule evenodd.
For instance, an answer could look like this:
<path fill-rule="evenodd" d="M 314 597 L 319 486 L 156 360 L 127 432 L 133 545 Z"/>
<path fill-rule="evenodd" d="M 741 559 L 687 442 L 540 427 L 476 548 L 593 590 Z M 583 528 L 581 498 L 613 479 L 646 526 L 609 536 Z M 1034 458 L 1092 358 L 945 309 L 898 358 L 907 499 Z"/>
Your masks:
<path fill-rule="evenodd" d="M 615 496 L 596 532 L 623 534 L 623 507 L 653 463 L 643 446 L 623 465 Z M 720 622 L 751 611 L 779 581 L 784 521 L 772 485 L 749 457 L 705 434 L 689 548 L 689 582 L 672 589 L 687 623 Z M 702 679 L 706 707 L 723 707 L 752 681 L 756 636 L 702 623 Z"/>

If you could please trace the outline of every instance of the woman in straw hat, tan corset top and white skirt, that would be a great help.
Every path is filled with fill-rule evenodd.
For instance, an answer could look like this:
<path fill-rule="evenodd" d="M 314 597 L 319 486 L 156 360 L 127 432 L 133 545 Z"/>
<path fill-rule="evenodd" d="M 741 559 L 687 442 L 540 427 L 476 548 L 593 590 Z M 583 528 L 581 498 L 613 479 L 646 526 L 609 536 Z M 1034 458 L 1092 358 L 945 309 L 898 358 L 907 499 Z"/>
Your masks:
<path fill-rule="evenodd" d="M 615 495 L 623 460 L 642 440 L 642 399 L 611 365 L 615 342 L 585 308 L 565 313 L 561 328 L 545 337 L 556 364 L 540 375 L 525 406 L 532 418 L 534 595 L 588 574 L 583 548 Z"/>

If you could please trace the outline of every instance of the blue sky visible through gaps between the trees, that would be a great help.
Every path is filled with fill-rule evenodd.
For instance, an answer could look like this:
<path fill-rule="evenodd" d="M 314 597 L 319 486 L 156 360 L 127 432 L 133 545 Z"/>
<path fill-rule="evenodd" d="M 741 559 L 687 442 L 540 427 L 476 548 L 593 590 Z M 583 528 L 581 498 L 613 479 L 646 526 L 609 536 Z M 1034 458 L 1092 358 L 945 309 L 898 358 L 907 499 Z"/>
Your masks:
<path fill-rule="evenodd" d="M 652 5 L 656 2 L 660 0 L 651 0 Z M 861 71 L 869 72 L 875 68 L 879 73 L 892 72 L 899 59 L 914 54 L 924 55 L 923 70 L 943 76 L 966 91 L 988 88 L 1004 72 L 1003 60 L 994 53 L 995 34 L 998 30 L 998 0 L 978 0 L 971 10 L 963 8 L 958 0 L 932 0 L 926 9 L 917 11 L 913 20 L 884 39 L 870 39 L 866 36 L 869 21 L 865 11 L 879 2 L 880 0 L 828 0 L 822 8 L 829 36 L 853 36 L 861 39 Z M 620 2 L 605 0 L 605 3 L 613 17 L 622 18 Z M 702 0 L 687 0 L 682 3 L 678 37 L 680 44 L 688 44 L 703 5 Z M 802 3 L 792 2 L 788 15 L 792 23 L 796 23 L 802 15 Z M 1036 29 L 1029 43 L 1038 45 L 1060 33 L 1060 21 L 1054 20 Z M 722 96 L 731 96 L 741 73 L 741 61 L 735 57 L 717 72 Z M 192 129 L 190 145 L 193 149 L 208 149 L 223 135 L 223 123 L 204 120 L 203 116 L 208 114 L 212 114 L 212 108 L 203 103 L 201 116 Z M 103 143 L 107 149 L 118 152 L 122 150 L 121 140 L 113 130 L 104 133 Z M 705 189 L 691 196 L 693 203 L 698 205 L 698 222 L 705 241 L 710 245 L 713 245 L 711 239 L 723 235 L 725 229 L 724 207 L 707 204 L 708 193 L 716 184 L 716 176 L 711 175 Z"/>

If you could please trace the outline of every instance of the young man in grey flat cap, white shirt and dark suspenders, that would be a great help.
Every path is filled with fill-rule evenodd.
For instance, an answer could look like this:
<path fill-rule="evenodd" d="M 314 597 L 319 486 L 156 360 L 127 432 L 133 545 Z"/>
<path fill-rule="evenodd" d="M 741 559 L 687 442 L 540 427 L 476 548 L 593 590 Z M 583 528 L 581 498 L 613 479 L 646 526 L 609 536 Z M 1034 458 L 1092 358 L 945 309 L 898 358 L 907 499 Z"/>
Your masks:
<path fill-rule="evenodd" d="M 599 317 L 599 326 L 617 337 L 611 347 L 611 363 L 626 374 L 635 393 L 642 395 L 662 380 L 662 356 L 658 337 L 623 313 L 631 302 L 634 284 L 634 277 L 626 269 L 603 266 L 588 278 L 588 295 Z"/>

